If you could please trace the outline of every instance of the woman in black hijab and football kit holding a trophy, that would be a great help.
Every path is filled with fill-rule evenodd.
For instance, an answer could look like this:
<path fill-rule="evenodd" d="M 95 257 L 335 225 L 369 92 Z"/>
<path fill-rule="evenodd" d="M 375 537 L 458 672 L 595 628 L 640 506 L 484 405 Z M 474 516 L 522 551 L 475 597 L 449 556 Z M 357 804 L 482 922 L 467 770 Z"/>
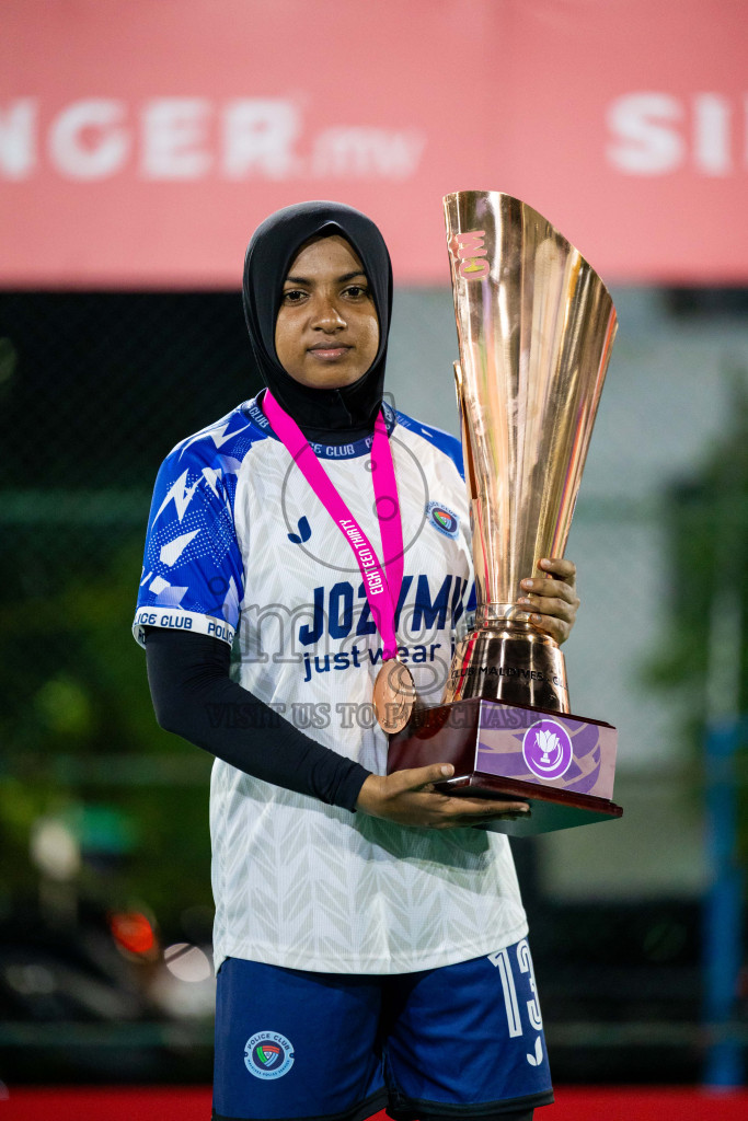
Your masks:
<path fill-rule="evenodd" d="M 215 756 L 215 1121 L 553 1100 L 508 841 L 471 827 L 527 805 L 387 776 L 372 715 L 395 665 L 438 703 L 472 585 L 459 442 L 382 402 L 391 296 L 363 214 L 273 214 L 243 285 L 267 388 L 156 483 L 135 630 L 159 723 Z M 539 567 L 520 602 L 563 641 L 574 566 Z"/>

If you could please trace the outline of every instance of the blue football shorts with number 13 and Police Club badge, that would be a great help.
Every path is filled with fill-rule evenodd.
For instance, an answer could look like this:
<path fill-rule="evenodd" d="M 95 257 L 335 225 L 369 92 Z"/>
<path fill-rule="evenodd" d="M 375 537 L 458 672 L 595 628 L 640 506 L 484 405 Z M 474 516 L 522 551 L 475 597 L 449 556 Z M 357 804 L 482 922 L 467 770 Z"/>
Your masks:
<path fill-rule="evenodd" d="M 228 958 L 214 1121 L 492 1121 L 553 1101 L 527 939 L 421 973 L 307 973 Z"/>

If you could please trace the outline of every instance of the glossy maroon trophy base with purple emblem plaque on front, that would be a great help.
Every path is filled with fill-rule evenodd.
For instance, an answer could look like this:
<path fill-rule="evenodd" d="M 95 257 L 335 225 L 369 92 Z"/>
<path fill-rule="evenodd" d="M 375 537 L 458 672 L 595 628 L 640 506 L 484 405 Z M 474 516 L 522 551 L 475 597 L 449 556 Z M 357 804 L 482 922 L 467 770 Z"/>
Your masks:
<path fill-rule="evenodd" d="M 417 710 L 390 736 L 387 773 L 452 763 L 453 778 L 437 790 L 527 802 L 529 817 L 481 824 L 530 836 L 621 816 L 610 800 L 616 741 L 616 729 L 602 721 L 474 697 Z"/>

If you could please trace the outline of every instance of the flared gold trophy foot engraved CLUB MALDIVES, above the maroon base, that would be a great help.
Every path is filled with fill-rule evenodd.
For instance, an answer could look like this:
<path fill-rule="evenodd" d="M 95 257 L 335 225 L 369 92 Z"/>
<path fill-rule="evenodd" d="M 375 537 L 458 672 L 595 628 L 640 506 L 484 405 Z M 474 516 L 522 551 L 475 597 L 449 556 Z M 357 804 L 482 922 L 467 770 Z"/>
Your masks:
<path fill-rule="evenodd" d="M 471 697 L 570 712 L 564 656 L 527 622 L 487 619 L 456 643 L 443 704 Z"/>

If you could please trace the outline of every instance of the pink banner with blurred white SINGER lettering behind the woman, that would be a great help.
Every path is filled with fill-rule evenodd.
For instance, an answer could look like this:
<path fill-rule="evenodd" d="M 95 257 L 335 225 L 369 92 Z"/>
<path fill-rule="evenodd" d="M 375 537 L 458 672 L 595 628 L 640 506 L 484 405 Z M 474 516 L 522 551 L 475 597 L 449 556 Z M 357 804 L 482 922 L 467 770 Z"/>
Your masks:
<path fill-rule="evenodd" d="M 6 0 L 0 284 L 237 287 L 311 197 L 447 284 L 469 188 L 609 281 L 748 282 L 747 29 L 741 0 Z"/>

